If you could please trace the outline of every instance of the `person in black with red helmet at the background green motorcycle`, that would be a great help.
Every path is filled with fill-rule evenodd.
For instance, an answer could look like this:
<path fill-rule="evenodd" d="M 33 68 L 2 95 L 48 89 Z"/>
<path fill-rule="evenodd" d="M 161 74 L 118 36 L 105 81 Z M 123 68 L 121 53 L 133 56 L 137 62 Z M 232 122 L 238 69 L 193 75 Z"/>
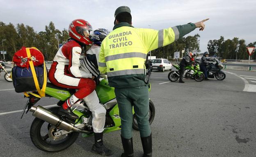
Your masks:
<path fill-rule="evenodd" d="M 188 65 L 192 65 L 192 62 L 190 60 L 193 58 L 194 54 L 192 52 L 188 52 L 181 60 L 180 62 L 180 80 L 179 83 L 185 83 L 183 79 L 183 74 L 185 71 L 185 67 Z M 194 59 L 194 58 L 193 58 Z"/>

